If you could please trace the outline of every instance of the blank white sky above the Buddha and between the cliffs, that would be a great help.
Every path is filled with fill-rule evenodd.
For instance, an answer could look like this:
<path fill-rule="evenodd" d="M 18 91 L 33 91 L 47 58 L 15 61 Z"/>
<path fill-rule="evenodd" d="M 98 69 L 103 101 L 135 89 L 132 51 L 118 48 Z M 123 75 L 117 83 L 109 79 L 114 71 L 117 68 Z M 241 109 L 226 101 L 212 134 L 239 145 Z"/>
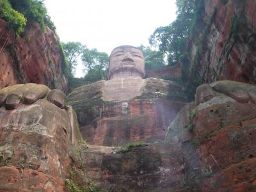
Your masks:
<path fill-rule="evenodd" d="M 120 45 L 147 46 L 148 37 L 176 17 L 175 0 L 45 0 L 62 42 L 110 54 Z M 77 70 L 77 77 L 83 76 Z"/>

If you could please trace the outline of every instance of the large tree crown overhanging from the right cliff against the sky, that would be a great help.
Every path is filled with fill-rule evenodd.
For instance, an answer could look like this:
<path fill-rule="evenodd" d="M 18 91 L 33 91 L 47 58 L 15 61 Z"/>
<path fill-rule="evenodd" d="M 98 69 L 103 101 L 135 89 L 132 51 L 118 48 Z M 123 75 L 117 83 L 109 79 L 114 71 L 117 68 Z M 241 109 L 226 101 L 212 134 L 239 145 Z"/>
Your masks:
<path fill-rule="evenodd" d="M 169 26 L 159 27 L 150 36 L 150 45 L 159 45 L 159 50 L 167 54 L 169 65 L 175 65 L 184 50 L 184 44 L 195 18 L 195 1 L 177 0 L 177 19 Z"/>

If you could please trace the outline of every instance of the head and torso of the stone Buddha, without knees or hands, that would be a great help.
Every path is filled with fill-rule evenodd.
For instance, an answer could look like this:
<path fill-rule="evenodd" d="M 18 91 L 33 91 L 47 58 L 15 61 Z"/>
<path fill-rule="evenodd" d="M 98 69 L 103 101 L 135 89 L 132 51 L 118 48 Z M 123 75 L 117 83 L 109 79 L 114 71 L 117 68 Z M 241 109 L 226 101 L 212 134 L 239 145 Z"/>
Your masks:
<path fill-rule="evenodd" d="M 112 146 L 163 140 L 184 106 L 184 93 L 174 81 L 143 77 L 142 52 L 124 45 L 111 52 L 108 81 L 81 86 L 68 95 L 88 143 Z"/>

